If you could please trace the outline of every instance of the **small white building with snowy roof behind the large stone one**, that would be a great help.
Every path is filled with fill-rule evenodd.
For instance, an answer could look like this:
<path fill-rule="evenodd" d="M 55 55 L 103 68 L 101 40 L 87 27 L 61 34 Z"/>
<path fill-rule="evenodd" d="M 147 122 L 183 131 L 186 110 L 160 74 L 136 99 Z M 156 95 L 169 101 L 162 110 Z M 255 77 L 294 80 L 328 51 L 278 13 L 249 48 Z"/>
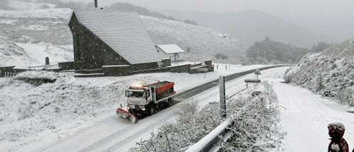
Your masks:
<path fill-rule="evenodd" d="M 171 62 L 177 62 L 182 60 L 181 53 L 184 53 L 183 49 L 178 47 L 176 44 L 171 45 L 156 45 L 156 49 L 158 53 L 163 53 L 165 55 L 169 55 Z"/>

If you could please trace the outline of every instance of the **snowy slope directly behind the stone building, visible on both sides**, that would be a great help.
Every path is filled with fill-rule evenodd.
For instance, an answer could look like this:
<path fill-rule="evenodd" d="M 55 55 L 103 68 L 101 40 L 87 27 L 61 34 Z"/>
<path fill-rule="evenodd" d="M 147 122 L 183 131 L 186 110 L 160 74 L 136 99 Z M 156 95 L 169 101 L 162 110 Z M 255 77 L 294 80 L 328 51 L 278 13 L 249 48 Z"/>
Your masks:
<path fill-rule="evenodd" d="M 16 44 L 29 55 L 26 60 L 19 59 L 22 62 L 4 64 L 3 61 L 10 61 L 12 58 L 17 61 L 18 57 L 5 56 L 0 52 L 0 59 L 3 59 L 0 60 L 0 66 L 12 63 L 17 63 L 13 65 L 21 67 L 27 67 L 29 64 L 43 65 L 44 58 L 47 56 L 53 64 L 72 60 L 73 53 L 70 45 L 72 46 L 73 40 L 67 26 L 71 12 L 69 8 L 35 9 L 35 7 L 27 10 L 23 8 L 0 10 L 0 28 L 2 29 L 0 35 L 7 37 L 12 44 Z M 187 60 L 215 59 L 217 53 L 228 53 L 230 54 L 228 61 L 237 62 L 238 60 L 234 58 L 239 59 L 244 56 L 243 49 L 239 48 L 237 40 L 224 38 L 222 34 L 213 29 L 161 18 L 147 16 L 141 16 L 141 18 L 155 44 L 177 43 L 185 51 L 188 47 L 190 53 L 183 55 Z M 63 49 L 63 46 L 67 49 Z M 220 61 L 227 62 L 227 60 Z"/>

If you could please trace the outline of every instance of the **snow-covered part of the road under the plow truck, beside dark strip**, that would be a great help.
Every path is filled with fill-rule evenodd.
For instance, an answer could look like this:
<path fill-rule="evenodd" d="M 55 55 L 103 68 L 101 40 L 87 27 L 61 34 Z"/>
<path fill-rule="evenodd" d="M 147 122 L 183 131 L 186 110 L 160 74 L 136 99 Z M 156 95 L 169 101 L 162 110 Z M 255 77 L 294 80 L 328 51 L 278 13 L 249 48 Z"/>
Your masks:
<path fill-rule="evenodd" d="M 263 71 L 261 79 L 273 77 L 274 73 L 278 73 L 276 77 L 281 77 L 287 67 L 274 68 Z M 244 79 L 253 78 L 255 75 L 246 75 L 239 77 L 233 81 L 226 83 L 226 94 L 231 95 L 245 88 Z M 189 100 L 196 100 L 200 105 L 207 104 L 212 101 L 218 101 L 218 87 L 206 90 Z M 104 121 L 79 131 L 73 136 L 64 138 L 38 149 L 38 145 L 34 147 L 23 147 L 19 151 L 128 151 L 134 147 L 135 142 L 141 138 L 148 138 L 150 131 L 155 131 L 159 126 L 174 121 L 176 118 L 176 110 L 178 104 L 169 107 L 153 116 L 143 118 L 136 124 L 119 118 L 114 112 L 110 114 Z"/>

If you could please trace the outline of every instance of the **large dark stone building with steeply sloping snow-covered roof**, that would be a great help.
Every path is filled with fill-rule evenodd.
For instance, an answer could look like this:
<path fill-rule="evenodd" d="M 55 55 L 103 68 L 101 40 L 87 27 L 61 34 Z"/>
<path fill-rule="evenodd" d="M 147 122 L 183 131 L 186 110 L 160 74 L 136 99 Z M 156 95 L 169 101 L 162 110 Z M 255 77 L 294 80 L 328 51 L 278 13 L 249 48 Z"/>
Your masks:
<path fill-rule="evenodd" d="M 139 14 L 97 8 L 74 10 L 69 28 L 73 34 L 76 71 L 110 66 L 129 71 L 158 68 L 161 59 Z"/>

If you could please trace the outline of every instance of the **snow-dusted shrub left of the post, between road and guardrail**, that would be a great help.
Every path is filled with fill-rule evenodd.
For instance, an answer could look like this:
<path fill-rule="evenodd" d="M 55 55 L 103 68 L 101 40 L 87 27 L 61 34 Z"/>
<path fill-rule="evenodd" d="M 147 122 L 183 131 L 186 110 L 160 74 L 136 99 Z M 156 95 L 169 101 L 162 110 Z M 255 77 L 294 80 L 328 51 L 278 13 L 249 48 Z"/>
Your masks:
<path fill-rule="evenodd" d="M 151 133 L 148 140 L 137 143 L 132 151 L 180 151 L 198 142 L 220 124 L 217 103 L 210 103 L 202 110 L 196 101 L 182 104 L 176 123 L 163 125 L 158 133 Z"/>

